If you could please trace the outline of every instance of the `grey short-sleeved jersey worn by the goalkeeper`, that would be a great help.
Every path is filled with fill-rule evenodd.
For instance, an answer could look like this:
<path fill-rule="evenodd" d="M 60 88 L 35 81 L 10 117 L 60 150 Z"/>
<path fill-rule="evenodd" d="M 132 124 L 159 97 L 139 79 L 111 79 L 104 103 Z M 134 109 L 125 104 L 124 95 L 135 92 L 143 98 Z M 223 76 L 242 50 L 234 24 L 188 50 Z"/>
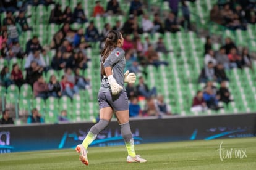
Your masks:
<path fill-rule="evenodd" d="M 102 58 L 101 58 L 102 59 Z M 100 60 L 101 62 L 101 60 Z M 126 67 L 126 59 L 124 58 L 124 50 L 116 47 L 106 58 L 103 63 L 104 68 L 111 67 L 113 77 L 116 82 L 122 86 L 122 91 L 126 91 L 124 87 L 124 67 Z M 101 73 L 101 70 L 100 70 Z M 101 92 L 110 91 L 110 84 L 108 83 L 108 77 L 101 75 Z"/>

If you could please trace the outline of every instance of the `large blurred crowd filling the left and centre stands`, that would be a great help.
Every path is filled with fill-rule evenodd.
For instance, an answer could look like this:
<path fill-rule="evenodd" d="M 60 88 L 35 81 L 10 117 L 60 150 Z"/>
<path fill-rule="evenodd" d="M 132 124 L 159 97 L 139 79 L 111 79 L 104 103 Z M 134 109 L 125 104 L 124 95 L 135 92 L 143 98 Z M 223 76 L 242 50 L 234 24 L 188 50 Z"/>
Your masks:
<path fill-rule="evenodd" d="M 6 17 L 0 25 L 0 58 L 7 63 L 1 68 L 1 86 L 7 88 L 11 84 L 15 84 L 21 87 L 22 84 L 27 83 L 32 86 L 34 97 L 47 99 L 49 96 L 61 97 L 67 95 L 72 98 L 74 94 L 79 93 L 80 89 L 90 88 L 90 79 L 83 76 L 83 71 L 87 69 L 87 63 L 92 57 L 87 55 L 86 49 L 94 47 L 95 42 L 100 42 L 100 48 L 102 48 L 105 37 L 110 30 L 119 30 L 124 35 L 123 48 L 126 51 L 126 69 L 147 77 L 147 72 L 143 68 L 148 65 L 155 67 L 168 65 L 168 62 L 160 60 L 158 55 L 158 52 L 166 53 L 168 51 L 163 43 L 163 35 L 156 44 L 153 44 L 149 37 L 146 37 L 145 43 L 142 44 L 140 34 L 148 33 L 148 36 L 153 36 L 156 32 L 160 34 L 164 34 L 166 31 L 176 33 L 181 26 L 191 28 L 189 8 L 186 1 L 182 1 L 182 22 L 177 17 L 177 10 L 179 9 L 174 9 L 176 4 L 173 4 L 173 1 L 170 1 L 169 4 L 172 12 L 169 13 L 167 18 L 161 18 L 158 13 L 155 13 L 153 14 L 153 20 L 150 20 L 147 10 L 143 7 L 145 4 L 139 0 L 130 2 L 130 9 L 127 13 L 124 9 L 121 9 L 119 2 L 116 0 L 109 1 L 106 7 L 101 5 L 101 1 L 95 1 L 93 12 L 88 16 L 85 15 L 81 2 L 78 2 L 74 9 L 66 6 L 62 10 L 62 4 L 56 4 L 52 0 L 1 1 L 0 12 L 5 12 Z M 61 28 L 56 31 L 51 44 L 48 44 L 48 46 L 41 46 L 38 35 L 33 34 L 33 37 L 26 42 L 25 49 L 23 49 L 19 36 L 26 31 L 33 32 L 33 25 L 29 25 L 27 22 L 27 17 L 31 17 L 26 15 L 27 6 L 36 7 L 38 5 L 54 6 L 51 8 L 49 15 L 49 24 L 61 25 Z M 93 17 L 106 17 L 108 15 L 125 15 L 127 20 L 123 25 L 119 20 L 116 20 L 116 25 L 113 28 L 111 28 L 110 23 L 106 23 L 102 32 L 100 32 L 92 19 Z M 142 17 L 141 27 L 139 26 L 139 17 Z M 85 29 L 74 30 L 70 26 L 72 23 L 83 24 L 87 22 L 89 24 Z M 53 57 L 49 56 L 49 49 L 56 50 Z M 15 58 L 22 62 L 11 65 Z M 64 71 L 59 78 L 57 75 L 52 75 L 49 79 L 45 79 L 44 75 L 47 75 L 49 70 Z M 168 105 L 163 101 L 163 97 L 157 95 L 155 87 L 148 89 L 147 85 L 143 83 L 143 77 L 137 87 L 128 84 L 127 88 L 129 86 L 136 90 L 134 94 L 139 94 L 136 96 L 137 99 L 140 96 L 147 99 L 143 113 L 139 114 L 137 112 L 135 115 L 160 116 L 161 113 L 171 114 Z M 129 99 L 133 98 L 134 96 L 129 97 Z M 136 100 L 131 103 L 136 105 Z M 35 115 L 37 114 L 35 110 L 32 112 L 35 112 Z M 34 119 L 31 117 L 30 121 L 37 121 L 37 119 L 36 116 Z"/>

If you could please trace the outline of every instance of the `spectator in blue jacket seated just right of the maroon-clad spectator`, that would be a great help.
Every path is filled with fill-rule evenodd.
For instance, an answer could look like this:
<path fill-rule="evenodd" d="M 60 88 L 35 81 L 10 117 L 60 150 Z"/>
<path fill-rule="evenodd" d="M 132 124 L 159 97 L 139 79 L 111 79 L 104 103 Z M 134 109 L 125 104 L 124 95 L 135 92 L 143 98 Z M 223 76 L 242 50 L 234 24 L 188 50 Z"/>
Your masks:
<path fill-rule="evenodd" d="M 205 92 L 203 92 L 203 99 L 207 103 L 207 107 L 212 110 L 218 110 L 218 97 L 216 97 L 215 94 L 213 94 L 213 90 L 210 87 L 207 87 L 205 89 Z"/>

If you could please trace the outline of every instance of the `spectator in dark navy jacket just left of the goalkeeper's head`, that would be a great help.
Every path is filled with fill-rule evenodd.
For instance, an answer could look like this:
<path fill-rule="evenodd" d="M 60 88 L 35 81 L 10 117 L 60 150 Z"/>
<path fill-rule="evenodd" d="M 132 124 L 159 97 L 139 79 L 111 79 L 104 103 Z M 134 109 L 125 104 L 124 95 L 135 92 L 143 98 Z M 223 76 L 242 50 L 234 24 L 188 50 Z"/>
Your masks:
<path fill-rule="evenodd" d="M 85 39 L 88 42 L 97 42 L 100 39 L 98 29 L 95 27 L 93 20 L 90 21 L 90 25 L 86 28 Z"/>

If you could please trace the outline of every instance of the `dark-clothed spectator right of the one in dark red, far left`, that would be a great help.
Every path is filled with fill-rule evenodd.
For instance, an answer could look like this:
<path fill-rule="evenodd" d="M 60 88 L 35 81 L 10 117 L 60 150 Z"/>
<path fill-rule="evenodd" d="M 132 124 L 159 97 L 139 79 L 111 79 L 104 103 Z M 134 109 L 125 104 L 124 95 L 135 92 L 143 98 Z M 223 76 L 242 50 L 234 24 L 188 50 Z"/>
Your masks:
<path fill-rule="evenodd" d="M 33 87 L 33 84 L 42 75 L 43 68 L 38 66 L 35 61 L 30 63 L 30 67 L 26 69 L 26 82 Z"/>

